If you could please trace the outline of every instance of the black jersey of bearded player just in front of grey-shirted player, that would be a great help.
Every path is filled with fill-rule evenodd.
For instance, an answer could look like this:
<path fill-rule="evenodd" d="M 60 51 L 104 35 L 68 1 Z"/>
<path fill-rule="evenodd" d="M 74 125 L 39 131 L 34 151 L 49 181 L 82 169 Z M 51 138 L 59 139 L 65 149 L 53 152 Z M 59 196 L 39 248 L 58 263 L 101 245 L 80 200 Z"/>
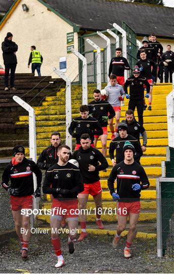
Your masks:
<path fill-rule="evenodd" d="M 108 101 L 100 100 L 100 101 L 91 101 L 88 104 L 89 114 L 98 120 L 101 127 L 105 127 L 108 125 L 108 119 L 112 119 L 115 116 L 115 110 L 111 106 Z M 108 116 L 108 113 L 110 115 Z"/>

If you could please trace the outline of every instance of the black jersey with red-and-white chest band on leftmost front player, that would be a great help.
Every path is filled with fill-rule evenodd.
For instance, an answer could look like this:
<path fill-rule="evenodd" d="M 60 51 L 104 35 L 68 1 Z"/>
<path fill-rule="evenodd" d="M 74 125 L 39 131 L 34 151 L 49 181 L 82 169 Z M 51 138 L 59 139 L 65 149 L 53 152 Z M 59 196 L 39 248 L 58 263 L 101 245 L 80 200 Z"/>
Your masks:
<path fill-rule="evenodd" d="M 42 172 L 36 163 L 30 161 L 24 157 L 23 161 L 18 164 L 14 164 L 14 158 L 6 166 L 3 177 L 2 186 L 8 190 L 11 188 L 19 189 L 19 197 L 32 195 L 34 193 L 33 177 L 34 173 L 37 177 L 37 187 L 41 187 Z M 9 180 L 11 185 L 9 186 Z"/>

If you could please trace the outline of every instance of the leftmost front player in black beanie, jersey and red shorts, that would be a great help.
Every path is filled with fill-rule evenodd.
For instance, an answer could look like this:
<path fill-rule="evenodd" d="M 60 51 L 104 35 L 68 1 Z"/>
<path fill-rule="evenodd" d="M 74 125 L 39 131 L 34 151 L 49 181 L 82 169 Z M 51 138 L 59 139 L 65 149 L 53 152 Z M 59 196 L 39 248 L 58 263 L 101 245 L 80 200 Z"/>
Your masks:
<path fill-rule="evenodd" d="M 26 209 L 32 210 L 33 196 L 36 198 L 41 196 L 42 173 L 36 163 L 24 157 L 24 147 L 14 147 L 13 155 L 14 157 L 4 170 L 2 186 L 10 194 L 10 203 L 15 221 L 16 233 L 21 243 L 20 252 L 22 258 L 26 259 L 30 238 L 30 216 L 27 216 Z M 33 173 L 37 177 L 37 188 L 35 192 Z M 9 180 L 11 181 L 10 186 Z M 24 233 L 22 231 L 27 232 Z"/>

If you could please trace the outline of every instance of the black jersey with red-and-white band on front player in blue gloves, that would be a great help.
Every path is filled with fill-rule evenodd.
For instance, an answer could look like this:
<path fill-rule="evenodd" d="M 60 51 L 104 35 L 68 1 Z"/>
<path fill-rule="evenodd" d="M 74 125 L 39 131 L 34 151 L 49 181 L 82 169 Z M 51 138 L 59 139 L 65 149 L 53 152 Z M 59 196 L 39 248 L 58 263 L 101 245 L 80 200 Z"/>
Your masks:
<path fill-rule="evenodd" d="M 117 194 L 119 201 L 133 202 L 140 200 L 140 192 L 150 185 L 145 169 L 140 164 L 133 162 L 125 164 L 124 161 L 116 164 L 108 179 L 108 188 L 111 195 L 115 192 L 114 181 L 117 180 Z M 142 183 L 142 184 L 141 184 Z M 132 185 L 140 184 L 140 190 L 132 190 Z"/>

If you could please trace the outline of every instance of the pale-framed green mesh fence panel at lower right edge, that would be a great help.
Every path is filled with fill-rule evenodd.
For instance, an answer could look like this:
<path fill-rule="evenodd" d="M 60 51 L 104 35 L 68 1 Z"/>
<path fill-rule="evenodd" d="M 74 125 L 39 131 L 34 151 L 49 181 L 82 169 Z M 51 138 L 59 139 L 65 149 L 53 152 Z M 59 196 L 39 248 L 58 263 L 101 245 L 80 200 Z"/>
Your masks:
<path fill-rule="evenodd" d="M 174 178 L 156 179 L 157 254 L 174 258 Z"/>

